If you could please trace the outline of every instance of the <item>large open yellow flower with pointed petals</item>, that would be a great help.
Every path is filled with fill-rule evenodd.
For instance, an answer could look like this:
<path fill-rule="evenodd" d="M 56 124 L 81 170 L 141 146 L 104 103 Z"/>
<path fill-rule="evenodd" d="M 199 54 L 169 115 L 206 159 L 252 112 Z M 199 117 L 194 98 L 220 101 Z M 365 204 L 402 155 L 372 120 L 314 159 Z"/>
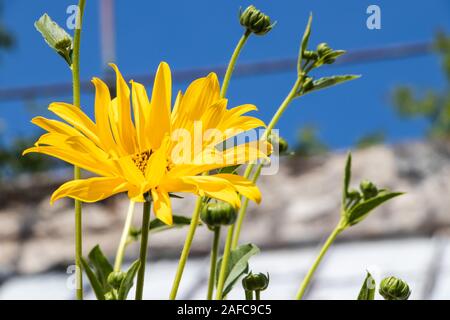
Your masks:
<path fill-rule="evenodd" d="M 241 176 L 200 175 L 267 157 L 271 148 L 267 143 L 217 147 L 243 131 L 264 126 L 261 120 L 244 116 L 255 106 L 228 110 L 227 100 L 219 97 L 217 76 L 211 73 L 192 82 L 184 95 L 178 93 L 172 109 L 172 79 L 166 63 L 158 67 L 151 101 L 142 84 L 131 81 L 130 90 L 118 68 L 111 66 L 116 72 L 116 98 L 111 99 L 103 81 L 92 80 L 95 122 L 79 108 L 60 102 L 50 104 L 49 110 L 65 122 L 32 120 L 48 133 L 24 154 L 47 154 L 99 176 L 63 184 L 53 193 L 52 203 L 63 197 L 96 202 L 121 192 L 144 201 L 148 193 L 155 215 L 171 224 L 172 192 L 208 196 L 235 207 L 240 205 L 238 194 L 260 202 L 258 188 Z M 189 141 L 199 132 L 203 140 Z"/>

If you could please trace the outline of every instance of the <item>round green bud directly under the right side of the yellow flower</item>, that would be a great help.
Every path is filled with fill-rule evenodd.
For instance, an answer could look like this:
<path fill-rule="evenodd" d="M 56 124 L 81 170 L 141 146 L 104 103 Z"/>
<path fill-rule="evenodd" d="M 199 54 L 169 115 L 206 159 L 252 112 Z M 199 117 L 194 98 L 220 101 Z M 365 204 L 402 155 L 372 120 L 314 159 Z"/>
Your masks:
<path fill-rule="evenodd" d="M 228 202 L 210 202 L 203 206 L 200 219 L 210 228 L 231 225 L 236 221 L 236 209 Z"/>

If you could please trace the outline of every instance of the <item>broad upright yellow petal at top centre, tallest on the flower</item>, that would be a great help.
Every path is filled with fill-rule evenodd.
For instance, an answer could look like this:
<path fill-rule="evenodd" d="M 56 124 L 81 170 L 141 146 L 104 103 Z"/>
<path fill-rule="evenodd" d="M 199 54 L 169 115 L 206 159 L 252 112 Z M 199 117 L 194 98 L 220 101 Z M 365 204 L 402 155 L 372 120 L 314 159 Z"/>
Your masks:
<path fill-rule="evenodd" d="M 172 99 L 172 76 L 169 65 L 161 62 L 153 84 L 152 101 L 146 133 L 150 147 L 156 150 L 165 135 L 170 135 L 170 108 Z"/>

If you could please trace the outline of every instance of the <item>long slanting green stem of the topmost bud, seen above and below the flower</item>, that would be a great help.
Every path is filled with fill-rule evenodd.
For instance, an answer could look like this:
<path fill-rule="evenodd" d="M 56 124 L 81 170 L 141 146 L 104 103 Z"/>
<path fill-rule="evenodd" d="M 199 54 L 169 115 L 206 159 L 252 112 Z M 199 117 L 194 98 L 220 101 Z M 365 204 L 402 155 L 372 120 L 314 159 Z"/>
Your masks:
<path fill-rule="evenodd" d="M 222 88 L 220 90 L 220 97 L 224 98 L 228 91 L 228 85 L 231 80 L 231 76 L 234 71 L 234 67 L 236 65 L 237 58 L 239 57 L 239 54 L 242 51 L 242 48 L 244 47 L 245 43 L 247 42 L 247 39 L 249 38 L 251 32 L 245 31 L 244 35 L 239 40 L 238 44 L 236 45 L 236 48 L 233 51 L 233 54 L 231 55 L 230 62 L 228 63 L 227 71 L 225 72 L 225 77 L 223 79 Z M 177 297 L 178 288 L 180 286 L 180 281 L 183 276 L 184 267 L 186 266 L 186 261 L 189 256 L 189 252 L 191 251 L 191 245 L 192 245 L 192 239 L 194 238 L 195 231 L 197 229 L 199 217 L 200 217 L 200 211 L 202 209 L 203 204 L 203 197 L 197 198 L 197 203 L 195 205 L 194 212 L 192 213 L 192 219 L 191 224 L 189 227 L 189 232 L 186 236 L 186 240 L 184 242 L 183 251 L 181 252 L 181 257 L 178 262 L 177 271 L 175 274 L 175 279 L 172 285 L 172 290 L 170 292 L 170 299 L 175 300 Z"/>

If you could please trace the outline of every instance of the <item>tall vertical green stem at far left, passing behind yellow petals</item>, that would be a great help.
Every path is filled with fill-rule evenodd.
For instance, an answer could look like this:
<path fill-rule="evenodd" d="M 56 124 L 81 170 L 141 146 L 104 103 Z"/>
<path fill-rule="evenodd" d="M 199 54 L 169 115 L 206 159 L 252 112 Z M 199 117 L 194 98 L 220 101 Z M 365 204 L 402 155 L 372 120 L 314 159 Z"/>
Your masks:
<path fill-rule="evenodd" d="M 72 86 L 73 86 L 73 104 L 80 108 L 80 42 L 81 42 L 81 26 L 83 21 L 84 7 L 86 1 L 80 0 L 78 3 L 79 17 L 75 28 L 72 53 Z M 75 180 L 81 178 L 81 170 L 74 167 L 73 177 Z M 81 257 L 83 255 L 83 224 L 82 224 L 82 208 L 81 201 L 75 200 L 75 281 L 76 281 L 76 297 L 83 300 L 83 270 L 81 267 Z"/>

